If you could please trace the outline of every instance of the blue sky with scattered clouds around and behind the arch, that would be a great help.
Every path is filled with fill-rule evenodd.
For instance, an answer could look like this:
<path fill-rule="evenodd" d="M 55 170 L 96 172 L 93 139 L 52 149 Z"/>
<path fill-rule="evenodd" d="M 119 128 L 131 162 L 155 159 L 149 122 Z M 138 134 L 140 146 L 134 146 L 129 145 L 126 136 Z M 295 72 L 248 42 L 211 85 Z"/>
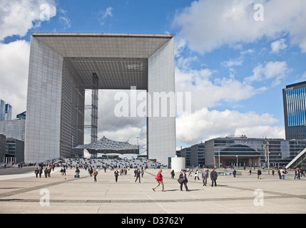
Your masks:
<path fill-rule="evenodd" d="M 14 115 L 26 109 L 31 32 L 174 34 L 175 87 L 192 92 L 193 108 L 177 118 L 177 147 L 226 135 L 285 138 L 282 88 L 306 81 L 303 0 L 2 0 L 0 15 L 0 98 Z M 137 123 L 98 136 L 143 134 Z"/>

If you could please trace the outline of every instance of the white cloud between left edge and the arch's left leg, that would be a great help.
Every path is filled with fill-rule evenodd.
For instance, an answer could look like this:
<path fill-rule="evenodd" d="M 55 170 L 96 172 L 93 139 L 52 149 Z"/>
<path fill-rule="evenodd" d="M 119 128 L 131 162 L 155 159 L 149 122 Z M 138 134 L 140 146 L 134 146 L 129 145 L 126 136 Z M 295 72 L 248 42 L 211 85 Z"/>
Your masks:
<path fill-rule="evenodd" d="M 0 43 L 0 99 L 13 106 L 12 118 L 26 110 L 30 44 Z"/>

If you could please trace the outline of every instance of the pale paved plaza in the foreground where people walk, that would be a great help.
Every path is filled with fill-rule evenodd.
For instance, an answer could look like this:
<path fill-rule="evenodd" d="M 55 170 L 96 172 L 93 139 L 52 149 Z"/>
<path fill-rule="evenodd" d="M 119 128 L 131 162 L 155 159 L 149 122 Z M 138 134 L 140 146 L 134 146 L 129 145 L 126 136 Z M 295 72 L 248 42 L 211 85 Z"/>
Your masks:
<path fill-rule="evenodd" d="M 33 167 L 23 167 L 23 174 L 0 175 L 0 212 L 4 213 L 90 213 L 90 214 L 254 214 L 306 213 L 306 177 L 294 180 L 290 172 L 287 180 L 262 172 L 257 180 L 256 170 L 248 175 L 221 176 L 217 187 L 211 181 L 188 177 L 190 191 L 180 191 L 179 173 L 170 178 L 164 169 L 163 182 L 155 192 L 158 170 L 148 169 L 135 182 L 133 169 L 119 176 L 115 182 L 113 171 L 98 170 L 97 182 L 81 169 L 75 179 L 75 168 L 68 168 L 66 176 L 56 168 L 51 177 L 36 178 Z M 28 170 L 27 170 L 28 169 Z M 1 170 L 0 170 L 1 171 Z M 28 172 L 29 171 L 29 172 Z M 219 170 L 224 172 L 224 170 Z"/>

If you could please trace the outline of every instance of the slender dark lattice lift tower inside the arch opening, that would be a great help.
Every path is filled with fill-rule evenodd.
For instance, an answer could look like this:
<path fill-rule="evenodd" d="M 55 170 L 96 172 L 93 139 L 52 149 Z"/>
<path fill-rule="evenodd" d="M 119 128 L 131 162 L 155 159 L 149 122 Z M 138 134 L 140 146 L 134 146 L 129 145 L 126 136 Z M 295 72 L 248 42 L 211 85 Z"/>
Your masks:
<path fill-rule="evenodd" d="M 91 142 L 98 140 L 98 76 L 93 73 L 93 91 L 91 95 Z"/>

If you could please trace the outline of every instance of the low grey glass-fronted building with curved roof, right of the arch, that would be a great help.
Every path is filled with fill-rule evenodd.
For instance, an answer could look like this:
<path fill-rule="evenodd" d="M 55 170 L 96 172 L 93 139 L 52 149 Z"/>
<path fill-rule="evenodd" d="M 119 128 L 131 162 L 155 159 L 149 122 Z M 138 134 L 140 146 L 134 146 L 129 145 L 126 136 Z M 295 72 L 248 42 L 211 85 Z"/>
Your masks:
<path fill-rule="evenodd" d="M 225 137 L 183 148 L 178 157 L 185 157 L 186 167 L 270 166 L 287 165 L 306 148 L 306 140 L 275 138 Z M 203 149 L 203 152 L 200 150 Z M 269 155 L 268 155 L 269 152 Z M 197 157 L 198 160 L 195 160 Z M 204 165 L 199 162 L 204 160 Z"/>

